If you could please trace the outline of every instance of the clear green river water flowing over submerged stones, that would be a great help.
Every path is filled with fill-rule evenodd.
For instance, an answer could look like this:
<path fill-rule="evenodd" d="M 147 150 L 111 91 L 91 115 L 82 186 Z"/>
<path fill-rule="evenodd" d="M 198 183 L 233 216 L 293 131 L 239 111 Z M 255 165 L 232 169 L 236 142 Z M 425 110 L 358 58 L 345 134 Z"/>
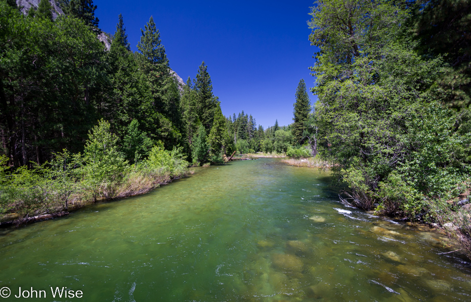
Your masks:
<path fill-rule="evenodd" d="M 0 229 L 0 302 L 471 301 L 471 264 L 440 254 L 443 238 L 344 206 L 330 181 L 276 159 L 233 162 Z M 19 287 L 46 298 L 15 298 Z"/>

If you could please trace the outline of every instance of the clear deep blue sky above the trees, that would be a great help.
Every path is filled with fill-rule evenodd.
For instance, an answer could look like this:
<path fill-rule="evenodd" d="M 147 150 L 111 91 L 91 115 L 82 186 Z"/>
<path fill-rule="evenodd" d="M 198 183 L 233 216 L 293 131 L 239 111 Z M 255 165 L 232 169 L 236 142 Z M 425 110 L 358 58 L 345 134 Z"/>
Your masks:
<path fill-rule="evenodd" d="M 154 17 L 170 67 L 186 82 L 204 60 L 225 116 L 242 110 L 264 128 L 278 119 L 293 122 L 294 93 L 301 78 L 308 88 L 310 46 L 307 21 L 313 0 L 169 1 L 94 0 L 100 28 L 116 31 L 119 13 L 131 49 Z M 309 92 L 311 104 L 316 97 Z"/>

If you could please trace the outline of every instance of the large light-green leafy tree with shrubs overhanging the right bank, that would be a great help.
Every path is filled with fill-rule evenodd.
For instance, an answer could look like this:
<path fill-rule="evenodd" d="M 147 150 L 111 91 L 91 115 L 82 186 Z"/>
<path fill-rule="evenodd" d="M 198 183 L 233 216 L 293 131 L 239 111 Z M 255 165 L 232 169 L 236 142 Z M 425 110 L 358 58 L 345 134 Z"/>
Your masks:
<path fill-rule="evenodd" d="M 408 7 L 325 0 L 312 16 L 319 100 L 306 134 L 335 164 L 347 199 L 413 215 L 426 211 L 426 199 L 457 194 L 469 166 L 453 150 L 469 145 L 469 132 L 457 131 L 457 116 L 437 100 L 446 65 L 417 53 Z"/>

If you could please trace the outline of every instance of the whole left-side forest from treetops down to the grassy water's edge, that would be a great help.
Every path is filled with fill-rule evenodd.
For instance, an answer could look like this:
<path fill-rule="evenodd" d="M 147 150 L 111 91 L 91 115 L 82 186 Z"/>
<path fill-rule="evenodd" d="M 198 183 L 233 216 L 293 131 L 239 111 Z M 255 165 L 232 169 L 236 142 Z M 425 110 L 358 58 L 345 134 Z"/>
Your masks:
<path fill-rule="evenodd" d="M 224 117 L 204 62 L 184 84 L 152 16 L 133 52 L 122 16 L 103 33 L 91 0 L 19 3 L 0 1 L 0 214 L 140 194 L 292 143 L 277 121 Z"/>

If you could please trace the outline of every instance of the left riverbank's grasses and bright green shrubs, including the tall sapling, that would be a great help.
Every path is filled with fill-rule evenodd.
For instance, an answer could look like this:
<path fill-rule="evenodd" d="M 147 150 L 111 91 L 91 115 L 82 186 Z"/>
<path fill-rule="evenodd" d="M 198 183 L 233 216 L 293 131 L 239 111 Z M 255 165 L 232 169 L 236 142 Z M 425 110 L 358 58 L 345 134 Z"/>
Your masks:
<path fill-rule="evenodd" d="M 70 211 L 97 200 L 144 194 L 188 174 L 181 148 L 157 142 L 146 157 L 131 164 L 118 150 L 106 122 L 90 132 L 84 154 L 55 153 L 43 165 L 8 167 L 0 156 L 0 221 Z"/>

